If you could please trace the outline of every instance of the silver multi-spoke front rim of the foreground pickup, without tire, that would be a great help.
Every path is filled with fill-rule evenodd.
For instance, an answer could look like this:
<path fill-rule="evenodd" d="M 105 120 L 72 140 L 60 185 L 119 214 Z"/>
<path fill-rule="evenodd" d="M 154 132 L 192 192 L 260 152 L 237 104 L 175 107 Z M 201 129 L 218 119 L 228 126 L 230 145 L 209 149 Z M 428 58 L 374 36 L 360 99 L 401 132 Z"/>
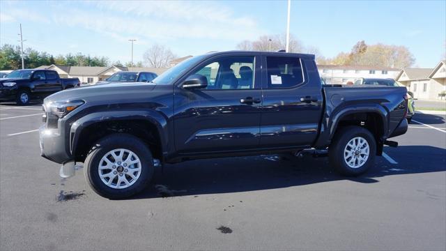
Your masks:
<path fill-rule="evenodd" d="M 141 175 L 141 160 L 128 149 L 114 149 L 102 157 L 98 172 L 100 180 L 109 188 L 128 188 Z"/>

